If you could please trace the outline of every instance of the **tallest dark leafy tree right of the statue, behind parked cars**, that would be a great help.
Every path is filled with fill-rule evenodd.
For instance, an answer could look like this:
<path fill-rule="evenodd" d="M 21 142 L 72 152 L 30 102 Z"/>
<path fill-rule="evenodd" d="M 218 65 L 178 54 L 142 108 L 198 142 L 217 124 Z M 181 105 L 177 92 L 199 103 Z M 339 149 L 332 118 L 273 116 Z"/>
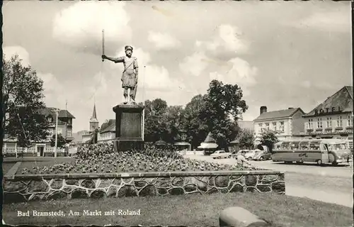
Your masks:
<path fill-rule="evenodd" d="M 237 120 L 248 109 L 242 96 L 242 89 L 237 84 L 222 84 L 214 79 L 203 97 L 200 119 L 207 124 L 221 148 L 227 148 L 239 133 Z"/>

